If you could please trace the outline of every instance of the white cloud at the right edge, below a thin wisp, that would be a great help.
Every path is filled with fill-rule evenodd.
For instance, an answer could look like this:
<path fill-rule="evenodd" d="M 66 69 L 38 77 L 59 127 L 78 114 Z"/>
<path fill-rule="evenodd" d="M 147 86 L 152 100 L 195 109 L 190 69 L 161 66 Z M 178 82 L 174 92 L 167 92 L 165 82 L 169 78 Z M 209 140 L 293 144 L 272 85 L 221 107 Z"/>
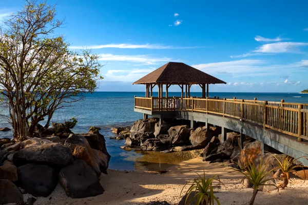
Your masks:
<path fill-rule="evenodd" d="M 278 42 L 273 44 L 264 44 L 253 52 L 260 53 L 287 53 L 298 52 L 298 47 L 308 46 L 308 43 L 302 42 Z"/>

